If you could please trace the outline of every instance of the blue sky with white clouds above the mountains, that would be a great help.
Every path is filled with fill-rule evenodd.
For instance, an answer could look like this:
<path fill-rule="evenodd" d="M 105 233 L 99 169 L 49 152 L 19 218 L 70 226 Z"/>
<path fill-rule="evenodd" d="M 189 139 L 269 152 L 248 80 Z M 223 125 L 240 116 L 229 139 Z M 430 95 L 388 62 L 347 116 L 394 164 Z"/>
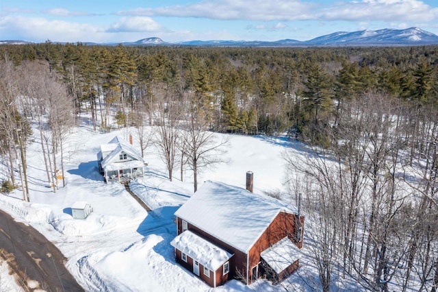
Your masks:
<path fill-rule="evenodd" d="M 0 0 L 0 40 L 309 40 L 413 26 L 438 34 L 438 1 Z"/>

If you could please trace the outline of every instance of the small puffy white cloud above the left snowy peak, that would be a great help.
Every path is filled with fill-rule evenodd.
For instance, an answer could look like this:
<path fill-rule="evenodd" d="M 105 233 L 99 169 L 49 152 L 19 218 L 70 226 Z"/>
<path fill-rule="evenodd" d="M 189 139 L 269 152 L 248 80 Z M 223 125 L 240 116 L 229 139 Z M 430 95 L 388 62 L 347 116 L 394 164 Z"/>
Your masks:
<path fill-rule="evenodd" d="M 107 32 L 161 32 L 164 28 L 150 17 L 123 17 L 107 29 Z"/>

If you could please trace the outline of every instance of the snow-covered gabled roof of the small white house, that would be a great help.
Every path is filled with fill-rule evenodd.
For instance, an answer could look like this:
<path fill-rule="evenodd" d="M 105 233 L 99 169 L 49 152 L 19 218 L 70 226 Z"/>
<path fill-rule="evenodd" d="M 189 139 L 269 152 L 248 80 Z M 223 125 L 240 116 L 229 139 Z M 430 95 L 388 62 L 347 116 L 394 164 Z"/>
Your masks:
<path fill-rule="evenodd" d="M 112 138 L 110 143 L 101 145 L 102 152 L 104 149 L 112 149 L 111 153 L 108 154 L 101 162 L 103 169 L 107 171 L 120 169 L 121 163 L 123 163 L 124 167 L 127 168 L 144 167 L 144 160 L 142 156 L 138 154 L 136 149 L 134 149 L 131 144 L 127 143 L 119 136 L 115 136 L 114 138 Z M 118 155 L 121 152 L 126 153 L 133 160 L 118 162 Z M 115 162 L 114 160 L 117 160 L 117 162 Z"/>

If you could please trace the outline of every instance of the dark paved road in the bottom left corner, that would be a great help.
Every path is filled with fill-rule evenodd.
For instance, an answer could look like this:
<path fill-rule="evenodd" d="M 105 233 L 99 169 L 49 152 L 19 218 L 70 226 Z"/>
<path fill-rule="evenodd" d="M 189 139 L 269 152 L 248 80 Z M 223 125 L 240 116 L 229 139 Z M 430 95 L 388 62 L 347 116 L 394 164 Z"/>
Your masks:
<path fill-rule="evenodd" d="M 25 291 L 83 291 L 64 266 L 66 258 L 34 228 L 0 210 L 0 257 Z"/>

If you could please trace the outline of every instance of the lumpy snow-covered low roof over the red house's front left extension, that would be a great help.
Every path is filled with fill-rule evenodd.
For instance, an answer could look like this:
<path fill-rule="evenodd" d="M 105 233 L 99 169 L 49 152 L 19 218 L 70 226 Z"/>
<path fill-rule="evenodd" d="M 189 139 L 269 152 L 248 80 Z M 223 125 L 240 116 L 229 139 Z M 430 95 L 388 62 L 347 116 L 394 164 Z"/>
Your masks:
<path fill-rule="evenodd" d="M 190 230 L 185 230 L 185 232 L 179 234 L 170 242 L 170 245 L 181 250 L 190 258 L 198 260 L 201 265 L 211 269 L 211 271 L 216 271 L 216 269 L 233 256 Z"/>

